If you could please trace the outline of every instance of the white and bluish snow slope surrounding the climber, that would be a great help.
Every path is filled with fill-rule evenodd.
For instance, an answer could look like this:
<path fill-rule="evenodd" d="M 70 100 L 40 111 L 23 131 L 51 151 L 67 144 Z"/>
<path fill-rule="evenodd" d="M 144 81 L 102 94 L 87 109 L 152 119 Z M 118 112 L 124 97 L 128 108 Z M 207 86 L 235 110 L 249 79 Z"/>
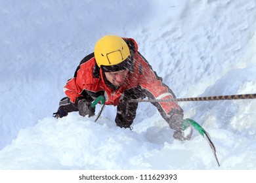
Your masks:
<path fill-rule="evenodd" d="M 106 34 L 132 37 L 177 97 L 255 93 L 255 0 L 10 1 L 0 6 L 0 169 L 256 169 L 256 100 L 181 102 L 211 135 L 191 141 L 150 103 L 133 131 L 55 119 L 63 87 Z M 97 109 L 98 110 L 98 109 Z"/>

